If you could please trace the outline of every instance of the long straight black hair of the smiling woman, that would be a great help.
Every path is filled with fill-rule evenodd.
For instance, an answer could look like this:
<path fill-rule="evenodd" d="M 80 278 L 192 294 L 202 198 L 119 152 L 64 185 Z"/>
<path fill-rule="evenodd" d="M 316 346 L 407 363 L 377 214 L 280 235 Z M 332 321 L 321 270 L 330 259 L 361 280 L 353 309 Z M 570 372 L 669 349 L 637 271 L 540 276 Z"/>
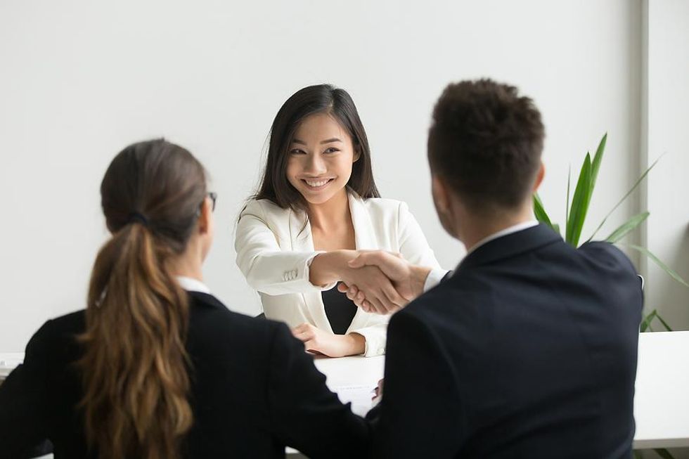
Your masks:
<path fill-rule="evenodd" d="M 368 147 L 366 129 L 363 129 L 354 101 L 344 89 L 330 84 L 318 84 L 292 94 L 278 110 L 271 127 L 266 169 L 254 199 L 271 200 L 283 209 L 306 209 L 301 193 L 287 179 L 287 163 L 290 143 L 299 124 L 304 118 L 316 113 L 333 116 L 352 137 L 359 160 L 352 164 L 352 176 L 347 186 L 361 198 L 380 197 L 373 180 L 371 148 Z"/>

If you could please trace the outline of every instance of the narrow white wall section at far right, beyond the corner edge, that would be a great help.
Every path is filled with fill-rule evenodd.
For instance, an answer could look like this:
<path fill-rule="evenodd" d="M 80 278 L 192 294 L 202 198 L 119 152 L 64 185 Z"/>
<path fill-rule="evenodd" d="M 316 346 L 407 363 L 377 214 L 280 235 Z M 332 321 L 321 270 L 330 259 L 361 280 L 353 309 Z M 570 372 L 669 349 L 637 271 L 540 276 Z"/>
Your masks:
<path fill-rule="evenodd" d="M 689 2 L 648 0 L 645 15 L 648 138 L 642 164 L 663 155 L 648 179 L 646 244 L 689 281 Z M 655 264 L 648 263 L 647 273 L 647 309 L 689 330 L 689 288 Z"/>

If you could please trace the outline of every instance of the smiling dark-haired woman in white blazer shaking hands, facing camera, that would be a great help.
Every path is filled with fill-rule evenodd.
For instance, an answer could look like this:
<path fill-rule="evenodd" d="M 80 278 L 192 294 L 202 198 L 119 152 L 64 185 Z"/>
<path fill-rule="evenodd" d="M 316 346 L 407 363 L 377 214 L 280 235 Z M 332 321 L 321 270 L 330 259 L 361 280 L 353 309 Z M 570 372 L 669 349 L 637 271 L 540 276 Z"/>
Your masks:
<path fill-rule="evenodd" d="M 439 270 L 404 202 L 380 198 L 352 98 L 327 84 L 297 91 L 278 111 L 235 248 L 266 316 L 288 323 L 307 350 L 332 357 L 384 354 L 387 328 L 387 316 L 357 309 L 337 282 L 356 285 L 378 309 L 408 301 L 378 267 L 349 266 L 362 250 Z"/>

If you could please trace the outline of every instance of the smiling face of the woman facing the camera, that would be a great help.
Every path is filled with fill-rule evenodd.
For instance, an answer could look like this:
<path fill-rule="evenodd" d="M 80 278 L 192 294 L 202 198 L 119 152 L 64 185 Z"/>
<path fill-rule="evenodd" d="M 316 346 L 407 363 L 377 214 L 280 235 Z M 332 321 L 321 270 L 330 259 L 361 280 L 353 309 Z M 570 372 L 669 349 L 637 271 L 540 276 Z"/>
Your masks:
<path fill-rule="evenodd" d="M 325 113 L 304 118 L 288 155 L 287 179 L 309 204 L 323 204 L 345 193 L 352 164 L 359 159 L 347 131 Z"/>

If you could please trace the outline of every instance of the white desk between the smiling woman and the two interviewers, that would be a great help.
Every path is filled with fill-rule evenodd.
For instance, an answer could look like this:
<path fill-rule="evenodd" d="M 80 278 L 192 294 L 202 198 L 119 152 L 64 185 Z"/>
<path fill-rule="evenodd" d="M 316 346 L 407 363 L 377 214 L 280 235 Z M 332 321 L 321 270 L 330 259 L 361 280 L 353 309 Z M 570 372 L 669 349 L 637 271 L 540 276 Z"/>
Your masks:
<path fill-rule="evenodd" d="M 22 354 L 0 354 L 15 366 Z M 383 375 L 385 358 L 316 358 L 326 384 L 356 413 L 370 408 L 365 395 Z M 2 373 L 0 368 L 0 379 Z M 356 390 L 349 390 L 349 389 Z M 370 388 L 370 389 L 369 389 Z M 368 403 L 368 406 L 367 406 Z M 634 448 L 689 446 L 689 332 L 641 333 L 634 399 Z"/>

